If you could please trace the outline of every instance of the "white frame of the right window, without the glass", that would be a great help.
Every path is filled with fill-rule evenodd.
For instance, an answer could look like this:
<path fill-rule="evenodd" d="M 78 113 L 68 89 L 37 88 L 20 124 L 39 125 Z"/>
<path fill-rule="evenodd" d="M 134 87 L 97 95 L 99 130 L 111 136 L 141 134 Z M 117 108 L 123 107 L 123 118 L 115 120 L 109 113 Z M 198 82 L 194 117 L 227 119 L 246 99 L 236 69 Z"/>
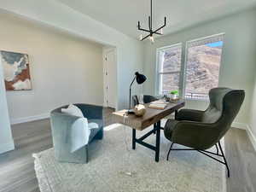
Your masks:
<path fill-rule="evenodd" d="M 201 41 L 207 38 L 215 38 L 217 36 L 224 36 L 225 33 L 221 32 L 218 34 L 214 34 L 214 35 L 210 35 L 207 37 L 203 37 L 203 38 L 195 38 L 189 41 L 186 41 L 186 46 L 185 46 L 185 55 L 184 55 L 184 62 L 183 62 L 183 85 L 181 87 L 182 92 L 183 92 L 183 99 L 186 101 L 202 101 L 202 102 L 208 102 L 209 98 L 186 98 L 186 84 L 187 84 L 187 67 L 188 67 L 188 55 L 189 55 L 189 44 L 196 42 L 196 41 Z M 224 42 L 224 39 L 223 39 Z M 223 48 L 221 50 L 221 58 L 219 61 L 219 70 L 218 70 L 218 86 L 219 86 L 219 73 L 220 73 L 220 67 L 221 67 L 221 63 L 222 63 L 222 55 L 223 55 Z"/>

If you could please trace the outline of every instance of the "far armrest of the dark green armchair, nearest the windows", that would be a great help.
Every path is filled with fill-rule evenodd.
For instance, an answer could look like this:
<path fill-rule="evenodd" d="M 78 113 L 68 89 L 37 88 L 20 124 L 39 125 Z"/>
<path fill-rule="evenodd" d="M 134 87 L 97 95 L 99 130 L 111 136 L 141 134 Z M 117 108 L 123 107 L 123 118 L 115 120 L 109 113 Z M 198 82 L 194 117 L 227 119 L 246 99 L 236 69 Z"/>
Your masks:
<path fill-rule="evenodd" d="M 194 109 L 181 109 L 178 111 L 177 120 L 201 121 L 204 111 Z"/>

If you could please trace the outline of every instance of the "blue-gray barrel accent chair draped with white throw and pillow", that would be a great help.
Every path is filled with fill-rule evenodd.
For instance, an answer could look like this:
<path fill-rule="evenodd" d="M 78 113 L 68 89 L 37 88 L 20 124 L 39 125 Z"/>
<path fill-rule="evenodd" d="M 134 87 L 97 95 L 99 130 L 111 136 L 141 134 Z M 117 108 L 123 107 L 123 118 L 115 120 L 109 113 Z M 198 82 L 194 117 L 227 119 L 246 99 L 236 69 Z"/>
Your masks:
<path fill-rule="evenodd" d="M 89 105 L 89 104 L 74 104 L 81 109 L 84 117 L 88 119 L 88 122 L 95 122 L 99 125 L 98 129 L 90 130 L 89 143 L 84 147 L 79 148 L 73 153 L 70 152 L 70 141 L 73 139 L 70 137 L 70 129 L 73 123 L 79 119 L 77 116 L 69 115 L 67 113 L 61 113 L 61 108 L 67 108 L 68 106 L 62 106 L 56 108 L 50 113 L 50 124 L 53 137 L 53 145 L 55 149 L 55 159 L 60 162 L 69 163 L 87 163 L 88 162 L 88 147 L 93 139 L 103 138 L 103 118 L 102 107 Z"/>

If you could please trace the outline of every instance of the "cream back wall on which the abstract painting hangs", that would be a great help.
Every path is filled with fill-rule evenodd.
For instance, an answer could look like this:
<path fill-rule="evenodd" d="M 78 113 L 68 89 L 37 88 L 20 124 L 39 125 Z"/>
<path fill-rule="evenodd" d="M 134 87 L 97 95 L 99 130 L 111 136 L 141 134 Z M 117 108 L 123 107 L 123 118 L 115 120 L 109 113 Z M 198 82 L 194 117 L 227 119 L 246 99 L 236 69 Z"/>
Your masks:
<path fill-rule="evenodd" d="M 32 76 L 32 90 L 7 92 L 11 122 L 45 117 L 68 103 L 103 104 L 101 44 L 14 15 L 0 14 L 0 23 L 0 49 L 27 53 Z"/>

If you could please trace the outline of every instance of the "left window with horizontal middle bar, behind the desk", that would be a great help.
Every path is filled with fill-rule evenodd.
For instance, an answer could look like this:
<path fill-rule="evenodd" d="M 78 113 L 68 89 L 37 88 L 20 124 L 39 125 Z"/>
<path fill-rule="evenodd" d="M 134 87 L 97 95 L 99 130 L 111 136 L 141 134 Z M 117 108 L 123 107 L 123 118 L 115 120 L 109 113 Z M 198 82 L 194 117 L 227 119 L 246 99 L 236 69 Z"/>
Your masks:
<path fill-rule="evenodd" d="M 157 50 L 159 95 L 165 95 L 171 90 L 179 90 L 181 54 L 182 44 Z"/>

